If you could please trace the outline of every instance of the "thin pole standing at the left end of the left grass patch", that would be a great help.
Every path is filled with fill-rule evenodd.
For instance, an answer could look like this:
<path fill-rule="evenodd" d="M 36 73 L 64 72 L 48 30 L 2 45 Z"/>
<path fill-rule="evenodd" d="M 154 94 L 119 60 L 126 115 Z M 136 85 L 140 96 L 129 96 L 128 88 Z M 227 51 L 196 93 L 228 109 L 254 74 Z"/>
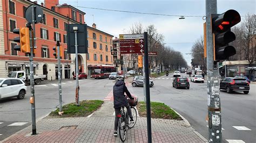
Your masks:
<path fill-rule="evenodd" d="M 59 81 L 59 115 L 63 114 L 62 111 L 62 77 L 61 77 L 61 70 L 60 70 L 60 44 L 59 41 L 57 41 L 57 59 L 58 59 L 58 81 Z"/>

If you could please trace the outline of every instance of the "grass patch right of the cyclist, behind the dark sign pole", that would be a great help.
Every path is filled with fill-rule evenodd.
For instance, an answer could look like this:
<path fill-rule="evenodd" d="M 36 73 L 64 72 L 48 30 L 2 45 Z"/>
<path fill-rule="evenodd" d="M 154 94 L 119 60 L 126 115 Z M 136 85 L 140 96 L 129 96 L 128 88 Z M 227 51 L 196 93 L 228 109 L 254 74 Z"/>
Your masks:
<path fill-rule="evenodd" d="M 150 102 L 151 118 L 183 120 L 175 111 L 164 103 Z M 137 105 L 139 116 L 146 117 L 146 103 L 139 102 Z"/>

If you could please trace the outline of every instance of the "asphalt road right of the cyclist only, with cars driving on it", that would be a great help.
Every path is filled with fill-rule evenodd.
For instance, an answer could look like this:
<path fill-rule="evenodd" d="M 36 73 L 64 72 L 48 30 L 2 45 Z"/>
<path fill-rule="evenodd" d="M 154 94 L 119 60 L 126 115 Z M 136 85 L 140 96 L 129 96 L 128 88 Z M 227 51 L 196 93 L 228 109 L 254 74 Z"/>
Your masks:
<path fill-rule="evenodd" d="M 181 76 L 188 77 L 186 74 L 181 74 Z M 205 120 L 207 115 L 206 82 L 190 81 L 190 89 L 176 89 L 172 87 L 172 78 L 173 74 L 170 74 L 168 77 L 161 76 L 154 80 L 154 87 L 150 88 L 151 101 L 163 102 L 171 106 L 185 117 L 193 128 L 208 139 L 208 123 Z M 224 142 L 227 140 L 256 142 L 256 84 L 250 86 L 251 90 L 248 95 L 242 92 L 234 94 L 220 92 Z M 134 87 L 133 90 L 141 100 L 144 99 L 143 88 Z M 242 130 L 233 126 L 241 126 Z"/>

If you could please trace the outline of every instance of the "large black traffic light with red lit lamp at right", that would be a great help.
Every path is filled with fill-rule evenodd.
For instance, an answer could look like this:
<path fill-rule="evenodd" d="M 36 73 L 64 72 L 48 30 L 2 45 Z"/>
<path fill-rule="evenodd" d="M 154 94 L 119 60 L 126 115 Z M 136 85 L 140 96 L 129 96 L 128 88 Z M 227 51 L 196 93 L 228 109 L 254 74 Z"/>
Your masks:
<path fill-rule="evenodd" d="M 239 13 L 228 10 L 222 14 L 214 14 L 211 19 L 214 47 L 214 60 L 228 60 L 236 54 L 235 48 L 228 43 L 235 40 L 235 34 L 231 27 L 241 21 Z"/>

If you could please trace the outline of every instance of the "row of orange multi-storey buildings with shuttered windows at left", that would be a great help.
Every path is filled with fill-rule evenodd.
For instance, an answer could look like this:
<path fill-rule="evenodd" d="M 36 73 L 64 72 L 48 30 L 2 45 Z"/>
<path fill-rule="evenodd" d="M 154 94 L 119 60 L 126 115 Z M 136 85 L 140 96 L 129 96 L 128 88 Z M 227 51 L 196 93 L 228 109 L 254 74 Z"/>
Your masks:
<path fill-rule="evenodd" d="M 57 59 L 53 56 L 53 47 L 56 45 L 56 41 L 60 41 L 60 45 L 64 48 L 64 57 L 61 60 L 62 64 L 62 78 L 70 78 L 72 71 L 75 70 L 75 54 L 68 54 L 66 50 L 66 24 L 77 23 L 85 24 L 84 15 L 85 12 L 80 11 L 68 4 L 59 4 L 58 0 L 44 0 L 45 3 L 41 3 L 44 15 L 43 20 L 36 24 L 36 54 L 34 57 L 34 73 L 46 75 L 48 80 L 56 79 L 57 76 Z M 17 34 L 12 33 L 14 28 L 25 27 L 26 19 L 25 10 L 31 4 L 37 4 L 37 2 L 24 1 L 24 0 L 0 0 L 0 77 L 6 77 L 9 71 L 24 70 L 29 72 L 29 57 L 28 55 L 17 52 L 14 50 L 14 46 L 17 45 L 12 39 L 17 37 Z M 111 64 L 111 54 L 107 56 L 107 61 L 103 62 L 102 57 L 106 58 L 109 55 L 107 51 L 100 52 L 100 35 L 107 37 L 110 41 L 112 35 L 99 31 L 95 28 L 88 26 L 89 33 L 89 56 L 86 58 L 86 54 L 79 54 L 79 71 L 86 72 L 87 66 L 86 59 L 89 59 L 88 63 L 98 65 L 100 63 Z M 93 33 L 96 34 L 96 39 L 93 39 Z M 97 41 L 99 40 L 99 41 Z M 97 48 L 93 48 L 93 42 L 96 42 Z M 102 45 L 104 42 L 102 42 Z M 111 46 L 105 43 L 104 46 Z M 100 54 L 101 53 L 101 54 Z M 90 57 L 97 54 L 96 60 Z M 100 56 L 102 55 L 102 57 Z M 106 59 L 104 59 L 106 60 Z"/>

